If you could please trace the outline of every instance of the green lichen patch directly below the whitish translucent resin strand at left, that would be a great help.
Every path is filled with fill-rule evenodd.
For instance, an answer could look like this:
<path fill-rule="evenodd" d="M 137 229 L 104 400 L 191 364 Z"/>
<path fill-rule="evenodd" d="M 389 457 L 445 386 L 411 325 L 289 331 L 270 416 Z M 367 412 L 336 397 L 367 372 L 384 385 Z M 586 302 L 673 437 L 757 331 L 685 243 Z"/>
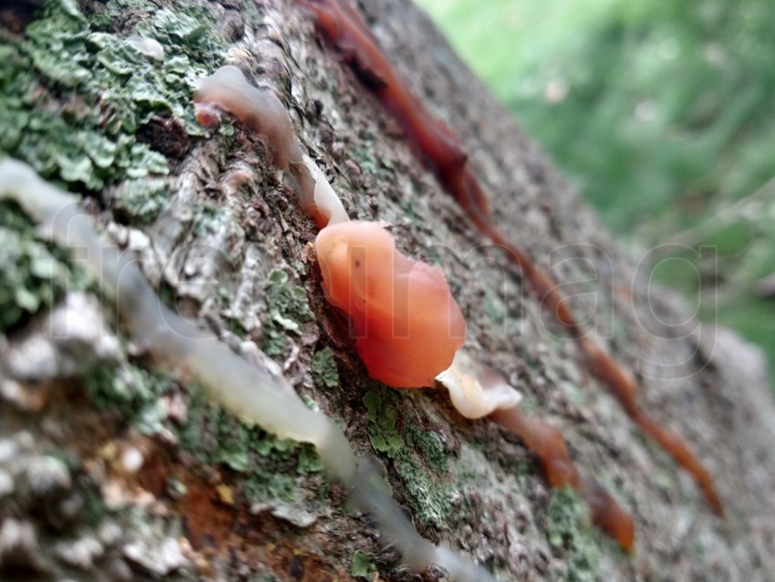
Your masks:
<path fill-rule="evenodd" d="M 235 473 L 235 483 L 252 503 L 292 501 L 306 475 L 323 468 L 312 445 L 279 439 L 239 421 L 199 393 L 191 397 L 188 418 L 176 430 L 181 446 L 201 462 Z"/>

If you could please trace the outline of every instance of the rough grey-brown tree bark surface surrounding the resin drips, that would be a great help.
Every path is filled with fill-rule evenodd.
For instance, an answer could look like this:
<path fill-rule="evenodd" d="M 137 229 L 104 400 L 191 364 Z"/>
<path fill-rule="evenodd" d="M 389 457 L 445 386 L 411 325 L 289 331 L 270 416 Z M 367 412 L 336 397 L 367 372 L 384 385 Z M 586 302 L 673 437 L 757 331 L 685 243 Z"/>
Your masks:
<path fill-rule="evenodd" d="M 111 34 L 128 36 L 151 17 L 125 6 Z M 153 126 L 171 200 L 143 223 L 122 203 L 127 186 L 114 183 L 89 197 L 98 223 L 137 249 L 182 312 L 248 357 L 252 346 L 268 349 L 299 393 L 376 454 L 421 535 L 500 579 L 771 579 L 775 411 L 758 354 L 687 323 L 686 307 L 648 286 L 415 6 L 364 0 L 359 9 L 410 86 L 460 135 L 497 222 L 638 375 L 646 410 L 706 462 L 726 520 L 590 376 L 519 272 L 470 226 L 298 5 L 222 0 L 204 14 L 228 54 L 287 104 L 350 215 L 389 223 L 403 252 L 442 265 L 470 353 L 511 379 L 532 414 L 561 427 L 582 472 L 635 516 L 635 554 L 584 525 L 580 505 L 548 488 L 518 440 L 462 420 L 440 392 L 368 379 L 322 296 L 308 245 L 314 224 L 243 128 L 181 145 L 169 125 Z M 83 0 L 80 10 L 104 5 Z M 4 43 L 22 41 L 26 18 L 5 15 Z M 209 223 L 203 205 L 215 214 Z M 314 454 L 209 408 L 184 370 L 122 336 L 93 291 L 70 292 L 0 336 L 0 577 L 444 579 L 398 566 L 367 518 L 347 512 L 345 492 L 315 471 Z"/>

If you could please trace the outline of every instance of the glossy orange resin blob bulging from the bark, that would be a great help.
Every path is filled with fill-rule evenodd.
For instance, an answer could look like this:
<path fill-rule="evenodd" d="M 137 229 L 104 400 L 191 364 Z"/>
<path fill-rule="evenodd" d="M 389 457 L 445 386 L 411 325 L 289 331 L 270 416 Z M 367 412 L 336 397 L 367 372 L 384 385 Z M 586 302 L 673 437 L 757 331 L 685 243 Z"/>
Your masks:
<path fill-rule="evenodd" d="M 351 318 L 369 376 L 394 388 L 433 386 L 466 336 L 441 269 L 401 255 L 377 223 L 331 224 L 315 250 L 325 298 Z"/>

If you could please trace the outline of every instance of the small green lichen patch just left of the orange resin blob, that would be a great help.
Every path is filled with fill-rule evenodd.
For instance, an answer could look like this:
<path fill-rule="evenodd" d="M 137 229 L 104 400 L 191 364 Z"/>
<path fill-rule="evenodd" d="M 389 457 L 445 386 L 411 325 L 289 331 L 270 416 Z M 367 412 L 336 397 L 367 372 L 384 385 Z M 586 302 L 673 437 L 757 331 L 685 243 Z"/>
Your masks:
<path fill-rule="evenodd" d="M 288 284 L 288 274 L 274 269 L 266 279 L 264 296 L 268 317 L 263 323 L 261 348 L 269 356 L 280 356 L 287 348 L 287 336 L 301 336 L 302 324 L 313 320 L 304 287 Z"/>

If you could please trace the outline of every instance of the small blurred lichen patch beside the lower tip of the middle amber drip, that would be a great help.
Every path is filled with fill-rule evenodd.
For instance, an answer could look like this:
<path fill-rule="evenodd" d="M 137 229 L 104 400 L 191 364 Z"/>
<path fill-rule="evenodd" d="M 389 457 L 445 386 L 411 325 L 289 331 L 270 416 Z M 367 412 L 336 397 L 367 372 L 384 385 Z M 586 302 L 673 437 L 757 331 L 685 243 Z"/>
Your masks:
<path fill-rule="evenodd" d="M 570 488 L 557 491 L 546 511 L 549 544 L 562 557 L 555 576 L 568 582 L 600 579 L 600 535 L 594 530 L 581 496 Z"/>

